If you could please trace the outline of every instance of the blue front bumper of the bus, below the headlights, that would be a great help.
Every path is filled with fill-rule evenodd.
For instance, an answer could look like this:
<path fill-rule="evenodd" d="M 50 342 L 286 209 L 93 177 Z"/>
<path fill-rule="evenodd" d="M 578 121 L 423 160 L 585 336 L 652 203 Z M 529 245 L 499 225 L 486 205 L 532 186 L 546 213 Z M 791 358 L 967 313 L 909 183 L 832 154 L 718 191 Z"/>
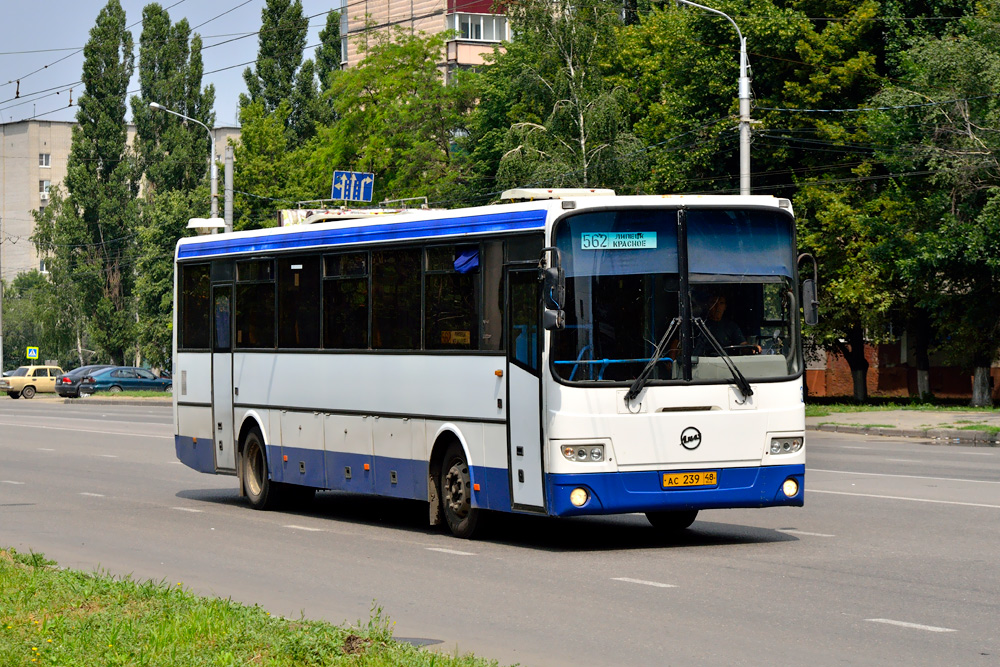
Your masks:
<path fill-rule="evenodd" d="M 663 488 L 663 472 L 666 471 L 547 475 L 549 514 L 583 516 L 736 507 L 801 507 L 804 502 L 804 465 L 717 470 L 719 481 L 715 486 L 672 489 Z M 796 482 L 797 491 L 792 496 L 786 495 L 783 488 L 789 479 Z M 586 491 L 587 501 L 577 507 L 570 501 L 570 494 L 580 488 Z"/>

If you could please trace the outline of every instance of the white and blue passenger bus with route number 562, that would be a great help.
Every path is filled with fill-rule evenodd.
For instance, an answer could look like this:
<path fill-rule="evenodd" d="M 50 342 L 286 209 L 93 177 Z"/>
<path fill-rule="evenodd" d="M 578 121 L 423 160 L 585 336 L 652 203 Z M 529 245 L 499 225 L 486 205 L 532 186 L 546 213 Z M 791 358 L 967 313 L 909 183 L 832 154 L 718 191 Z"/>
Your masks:
<path fill-rule="evenodd" d="M 416 499 L 464 538 L 489 512 L 801 506 L 791 203 L 503 199 L 181 239 L 178 459 L 254 508 Z"/>

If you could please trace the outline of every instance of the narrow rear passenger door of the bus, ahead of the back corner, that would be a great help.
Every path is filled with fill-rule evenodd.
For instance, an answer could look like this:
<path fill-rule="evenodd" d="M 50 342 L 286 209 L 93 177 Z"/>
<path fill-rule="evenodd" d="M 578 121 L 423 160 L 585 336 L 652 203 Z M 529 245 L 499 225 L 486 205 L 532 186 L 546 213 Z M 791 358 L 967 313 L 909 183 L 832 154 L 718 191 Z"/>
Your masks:
<path fill-rule="evenodd" d="M 233 441 L 233 286 L 212 286 L 212 423 L 215 469 L 236 469 Z"/>

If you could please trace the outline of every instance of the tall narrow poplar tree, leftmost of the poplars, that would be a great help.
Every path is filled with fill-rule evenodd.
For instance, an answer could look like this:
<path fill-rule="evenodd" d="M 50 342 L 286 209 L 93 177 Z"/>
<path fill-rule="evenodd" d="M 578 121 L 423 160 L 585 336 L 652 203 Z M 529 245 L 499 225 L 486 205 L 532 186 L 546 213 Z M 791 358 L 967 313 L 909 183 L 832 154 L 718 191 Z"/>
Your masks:
<path fill-rule="evenodd" d="M 132 35 L 118 0 L 109 0 L 98 14 L 83 53 L 84 92 L 64 181 L 68 194 L 58 207 L 53 202 L 36 217 L 33 240 L 66 283 L 74 285 L 72 298 L 79 297 L 94 344 L 120 363 L 135 350 L 132 287 L 138 188 L 125 145 Z M 66 294 L 70 292 L 61 292 Z M 61 302 L 68 311 L 70 304 Z"/>

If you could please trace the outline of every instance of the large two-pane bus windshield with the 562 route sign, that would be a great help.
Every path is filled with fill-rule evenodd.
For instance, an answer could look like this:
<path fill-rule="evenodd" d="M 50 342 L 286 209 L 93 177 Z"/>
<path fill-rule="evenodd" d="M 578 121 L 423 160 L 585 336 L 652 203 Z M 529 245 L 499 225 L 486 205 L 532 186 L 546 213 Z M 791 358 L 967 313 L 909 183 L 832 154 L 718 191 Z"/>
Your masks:
<path fill-rule="evenodd" d="M 682 296 L 692 320 L 704 323 L 691 326 L 692 381 L 733 381 L 720 348 L 748 380 L 797 375 L 793 225 L 791 216 L 775 210 L 689 210 L 682 248 L 676 209 L 564 218 L 555 228 L 566 272 L 566 303 L 559 304 L 566 328 L 552 339 L 556 377 L 630 383 L 662 342 L 649 384 L 683 381 L 682 327 L 661 341 L 680 316 Z M 680 292 L 682 260 L 687 295 Z"/>

